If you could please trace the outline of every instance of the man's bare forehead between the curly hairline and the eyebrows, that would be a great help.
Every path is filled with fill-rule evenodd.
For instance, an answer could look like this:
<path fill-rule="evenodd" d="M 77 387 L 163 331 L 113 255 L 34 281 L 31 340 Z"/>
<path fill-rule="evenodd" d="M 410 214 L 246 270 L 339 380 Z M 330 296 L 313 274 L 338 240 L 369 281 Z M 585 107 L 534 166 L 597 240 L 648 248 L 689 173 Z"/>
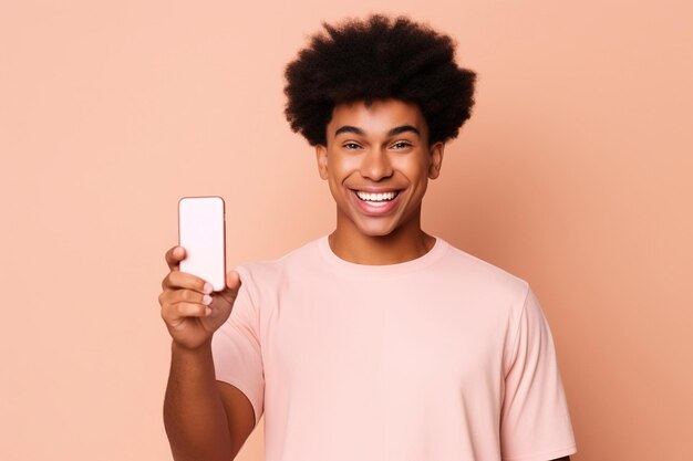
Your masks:
<path fill-rule="evenodd" d="M 366 105 L 363 101 L 334 106 L 328 124 L 328 135 L 333 136 L 341 126 L 350 125 L 365 133 L 386 133 L 396 126 L 412 125 L 423 134 L 426 129 L 418 105 L 401 99 L 377 99 Z"/>

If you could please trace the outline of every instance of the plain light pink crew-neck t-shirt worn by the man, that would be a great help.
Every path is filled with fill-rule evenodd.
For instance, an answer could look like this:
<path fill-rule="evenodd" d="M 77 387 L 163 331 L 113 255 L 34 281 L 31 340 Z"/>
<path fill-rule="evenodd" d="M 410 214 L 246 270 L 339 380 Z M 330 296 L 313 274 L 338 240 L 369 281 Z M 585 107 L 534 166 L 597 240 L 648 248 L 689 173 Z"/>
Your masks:
<path fill-rule="evenodd" d="M 548 461 L 576 452 L 527 282 L 441 238 L 363 265 L 327 235 L 237 268 L 217 379 L 265 413 L 267 461 Z"/>

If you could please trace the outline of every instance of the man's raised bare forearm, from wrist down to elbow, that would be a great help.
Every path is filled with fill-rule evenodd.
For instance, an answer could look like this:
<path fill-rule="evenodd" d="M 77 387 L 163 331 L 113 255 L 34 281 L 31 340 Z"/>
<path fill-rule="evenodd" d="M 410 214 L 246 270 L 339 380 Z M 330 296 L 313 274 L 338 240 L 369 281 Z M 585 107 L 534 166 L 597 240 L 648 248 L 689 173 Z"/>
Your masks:
<path fill-rule="evenodd" d="M 231 460 L 231 440 L 210 345 L 190 352 L 174 342 L 170 357 L 164 426 L 174 459 Z"/>

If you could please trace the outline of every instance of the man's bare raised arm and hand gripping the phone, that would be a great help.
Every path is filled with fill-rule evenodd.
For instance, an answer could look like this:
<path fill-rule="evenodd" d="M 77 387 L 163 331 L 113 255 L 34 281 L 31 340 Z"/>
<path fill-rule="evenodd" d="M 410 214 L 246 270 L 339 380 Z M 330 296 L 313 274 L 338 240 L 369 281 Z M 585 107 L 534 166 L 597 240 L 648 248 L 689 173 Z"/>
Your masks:
<path fill-rule="evenodd" d="M 211 336 L 231 313 L 241 282 L 229 271 L 226 287 L 213 293 L 200 277 L 180 271 L 186 252 L 165 254 L 168 274 L 158 297 L 172 336 L 170 371 L 164 397 L 164 426 L 173 458 L 232 460 L 255 427 L 250 400 L 215 379 Z"/>

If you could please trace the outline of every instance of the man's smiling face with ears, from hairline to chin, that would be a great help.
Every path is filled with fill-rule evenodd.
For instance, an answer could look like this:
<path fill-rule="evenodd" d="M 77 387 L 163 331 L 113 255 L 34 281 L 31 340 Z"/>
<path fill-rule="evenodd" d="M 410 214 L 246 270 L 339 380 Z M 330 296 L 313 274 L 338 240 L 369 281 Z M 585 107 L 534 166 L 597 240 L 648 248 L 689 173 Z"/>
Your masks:
<path fill-rule="evenodd" d="M 387 235 L 421 230 L 421 202 L 443 160 L 443 143 L 428 145 L 418 106 L 399 99 L 337 105 L 317 146 L 320 177 L 338 207 L 338 231 Z"/>

